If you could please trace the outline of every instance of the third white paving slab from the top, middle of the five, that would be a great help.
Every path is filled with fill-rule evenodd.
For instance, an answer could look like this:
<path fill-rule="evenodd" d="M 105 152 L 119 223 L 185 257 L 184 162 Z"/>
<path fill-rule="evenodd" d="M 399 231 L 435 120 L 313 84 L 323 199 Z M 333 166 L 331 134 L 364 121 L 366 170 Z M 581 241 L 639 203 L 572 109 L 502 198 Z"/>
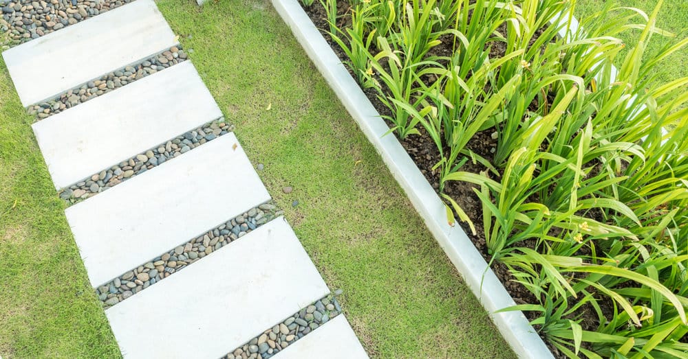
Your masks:
<path fill-rule="evenodd" d="M 269 199 L 228 133 L 65 214 L 95 287 Z"/>

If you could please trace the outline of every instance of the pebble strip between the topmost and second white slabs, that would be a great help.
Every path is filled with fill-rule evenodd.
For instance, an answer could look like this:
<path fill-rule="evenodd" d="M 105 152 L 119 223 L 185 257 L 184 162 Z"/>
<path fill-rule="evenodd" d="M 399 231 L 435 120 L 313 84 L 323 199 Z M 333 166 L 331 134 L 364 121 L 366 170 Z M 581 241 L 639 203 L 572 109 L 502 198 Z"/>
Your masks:
<path fill-rule="evenodd" d="M 2 0 L 0 0 L 2 1 Z M 108 93 L 114 89 L 125 86 L 136 80 L 162 71 L 167 67 L 176 65 L 188 58 L 181 45 L 173 46 L 166 51 L 151 56 L 146 60 L 119 69 L 89 81 L 81 86 L 66 91 L 52 100 L 34 104 L 28 107 L 30 115 L 35 115 L 37 120 L 45 119 L 56 113 L 61 113 L 67 108 L 72 108 L 82 102 L 87 102 L 97 96 Z"/>

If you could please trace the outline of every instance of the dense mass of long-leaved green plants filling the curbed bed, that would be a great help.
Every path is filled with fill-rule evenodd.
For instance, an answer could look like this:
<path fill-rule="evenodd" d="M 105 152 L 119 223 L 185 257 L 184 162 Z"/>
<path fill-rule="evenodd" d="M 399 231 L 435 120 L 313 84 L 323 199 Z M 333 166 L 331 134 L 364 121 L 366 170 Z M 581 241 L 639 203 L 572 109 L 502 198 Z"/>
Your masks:
<path fill-rule="evenodd" d="M 652 14 L 608 3 L 614 15 L 582 19 L 584 31 L 575 1 L 350 4 L 336 42 L 391 131 L 422 128 L 436 145 L 448 220 L 474 233 L 480 218 L 443 190 L 478 186 L 492 260 L 536 299 L 509 310 L 541 314 L 533 324 L 572 358 L 687 357 L 688 78 L 656 73 L 688 39 L 647 51 L 674 36 L 655 25 L 662 1 Z M 614 69 L 617 36 L 638 29 Z M 490 158 L 469 146 L 484 130 Z"/>

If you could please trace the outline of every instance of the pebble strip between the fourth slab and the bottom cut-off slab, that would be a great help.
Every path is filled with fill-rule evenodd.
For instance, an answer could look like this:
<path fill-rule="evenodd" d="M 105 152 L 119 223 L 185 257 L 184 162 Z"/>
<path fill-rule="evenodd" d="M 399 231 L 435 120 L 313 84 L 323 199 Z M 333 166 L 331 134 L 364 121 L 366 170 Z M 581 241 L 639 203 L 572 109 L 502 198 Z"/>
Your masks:
<path fill-rule="evenodd" d="M 336 290 L 340 295 L 341 290 Z M 336 297 L 327 297 L 308 305 L 286 321 L 266 330 L 248 343 L 223 356 L 224 359 L 267 359 L 292 345 L 306 334 L 341 314 L 342 308 Z"/>

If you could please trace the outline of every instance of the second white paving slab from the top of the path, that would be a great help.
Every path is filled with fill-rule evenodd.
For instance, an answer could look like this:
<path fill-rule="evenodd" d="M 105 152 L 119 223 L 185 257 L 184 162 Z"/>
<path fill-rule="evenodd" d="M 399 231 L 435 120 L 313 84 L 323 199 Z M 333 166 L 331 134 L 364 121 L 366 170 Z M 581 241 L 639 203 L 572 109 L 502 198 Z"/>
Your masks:
<path fill-rule="evenodd" d="M 32 127 L 60 189 L 221 116 L 186 61 Z"/>

